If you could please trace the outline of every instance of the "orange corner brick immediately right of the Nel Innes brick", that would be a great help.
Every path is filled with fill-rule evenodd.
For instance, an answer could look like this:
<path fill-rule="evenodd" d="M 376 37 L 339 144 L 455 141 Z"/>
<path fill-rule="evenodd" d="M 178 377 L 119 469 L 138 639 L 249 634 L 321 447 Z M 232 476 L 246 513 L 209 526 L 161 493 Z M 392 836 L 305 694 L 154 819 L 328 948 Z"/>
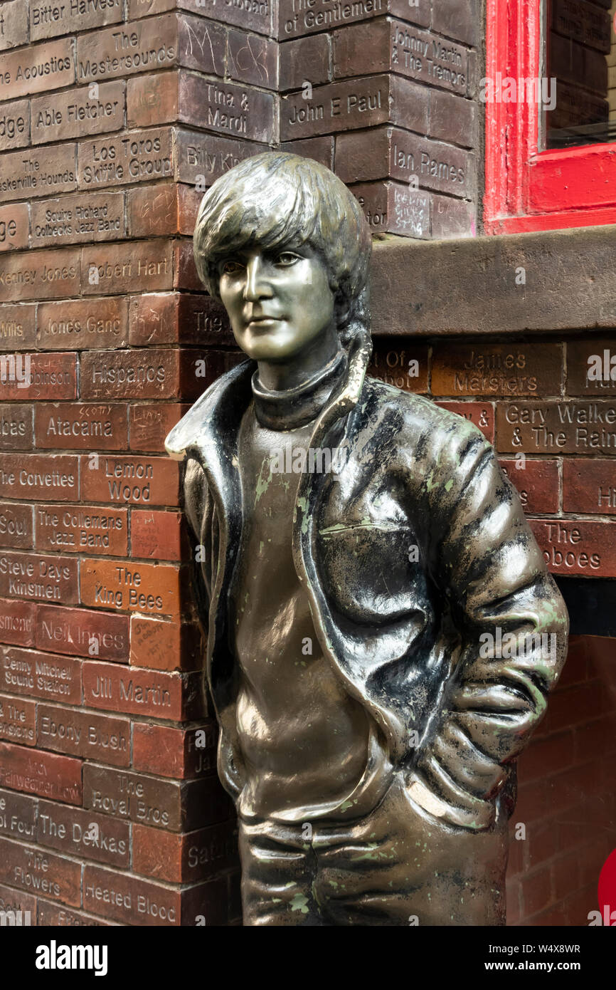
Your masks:
<path fill-rule="evenodd" d="M 131 617 L 131 665 L 152 670 L 195 670 L 203 666 L 203 644 L 196 623 Z"/>

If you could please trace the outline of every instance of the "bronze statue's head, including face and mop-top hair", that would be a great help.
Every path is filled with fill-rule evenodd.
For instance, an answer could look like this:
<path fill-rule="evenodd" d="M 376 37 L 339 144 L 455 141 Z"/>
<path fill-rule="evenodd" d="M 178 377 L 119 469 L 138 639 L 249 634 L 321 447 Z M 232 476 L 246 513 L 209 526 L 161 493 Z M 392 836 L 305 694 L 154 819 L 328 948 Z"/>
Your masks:
<path fill-rule="evenodd" d="M 332 326 L 343 344 L 368 334 L 370 230 L 344 183 L 311 158 L 267 151 L 225 172 L 203 198 L 194 246 L 249 356 L 293 357 Z"/>

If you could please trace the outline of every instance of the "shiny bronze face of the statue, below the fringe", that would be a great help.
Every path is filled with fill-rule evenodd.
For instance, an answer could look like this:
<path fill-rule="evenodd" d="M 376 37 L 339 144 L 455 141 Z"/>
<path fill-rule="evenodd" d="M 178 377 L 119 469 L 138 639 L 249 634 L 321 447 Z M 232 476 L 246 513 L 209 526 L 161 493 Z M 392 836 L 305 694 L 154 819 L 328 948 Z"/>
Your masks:
<path fill-rule="evenodd" d="M 334 294 L 311 247 L 240 250 L 219 264 L 220 298 L 241 349 L 282 362 L 317 345 L 333 324 Z"/>

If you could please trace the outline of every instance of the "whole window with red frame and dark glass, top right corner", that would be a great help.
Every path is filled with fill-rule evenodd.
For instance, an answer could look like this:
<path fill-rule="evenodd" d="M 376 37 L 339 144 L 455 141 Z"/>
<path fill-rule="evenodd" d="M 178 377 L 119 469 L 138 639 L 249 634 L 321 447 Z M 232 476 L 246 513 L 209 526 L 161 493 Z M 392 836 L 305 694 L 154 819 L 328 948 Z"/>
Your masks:
<path fill-rule="evenodd" d="M 616 223 L 616 0 L 487 0 L 488 234 Z"/>

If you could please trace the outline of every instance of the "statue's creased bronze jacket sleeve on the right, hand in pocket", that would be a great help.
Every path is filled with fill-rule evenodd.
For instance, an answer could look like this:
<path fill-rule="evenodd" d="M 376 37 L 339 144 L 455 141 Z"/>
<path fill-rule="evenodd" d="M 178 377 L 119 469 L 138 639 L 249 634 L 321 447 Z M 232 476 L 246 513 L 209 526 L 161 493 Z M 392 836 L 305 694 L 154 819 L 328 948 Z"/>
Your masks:
<path fill-rule="evenodd" d="M 408 786 L 435 817 L 483 830 L 507 763 L 544 715 L 569 617 L 492 446 L 470 424 L 450 425 L 445 441 L 425 479 L 430 569 L 461 642 Z"/>

